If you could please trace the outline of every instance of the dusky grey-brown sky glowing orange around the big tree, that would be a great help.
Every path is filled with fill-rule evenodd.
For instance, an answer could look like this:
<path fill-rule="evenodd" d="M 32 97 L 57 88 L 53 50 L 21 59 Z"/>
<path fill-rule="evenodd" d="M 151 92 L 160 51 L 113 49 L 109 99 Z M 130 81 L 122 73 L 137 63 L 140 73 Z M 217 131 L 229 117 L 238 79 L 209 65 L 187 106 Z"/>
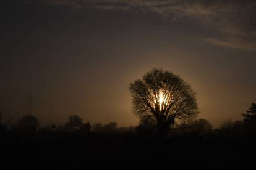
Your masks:
<path fill-rule="evenodd" d="M 218 127 L 256 102 L 256 1 L 2 0 L 0 111 L 134 126 L 129 84 L 154 67 Z"/>

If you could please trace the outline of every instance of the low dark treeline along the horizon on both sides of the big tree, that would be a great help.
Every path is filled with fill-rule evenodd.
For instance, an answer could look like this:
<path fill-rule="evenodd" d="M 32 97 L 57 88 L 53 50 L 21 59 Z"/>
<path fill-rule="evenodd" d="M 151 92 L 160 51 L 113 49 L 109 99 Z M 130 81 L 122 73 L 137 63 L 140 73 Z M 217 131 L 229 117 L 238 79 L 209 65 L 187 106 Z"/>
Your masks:
<path fill-rule="evenodd" d="M 201 137 L 203 139 L 220 137 L 229 139 L 254 136 L 256 134 L 256 104 L 252 103 L 249 110 L 243 113 L 242 116 L 244 118 L 242 121 L 224 121 L 219 128 L 215 129 L 206 119 L 179 123 L 171 128 L 168 137 Z M 141 119 L 138 126 L 131 127 L 117 127 L 117 123 L 114 121 L 108 124 L 92 124 L 89 121 L 84 122 L 79 115 L 70 115 L 64 125 L 52 124 L 48 127 L 40 127 L 40 121 L 35 116 L 26 115 L 16 123 L 11 123 L 11 119 L 3 122 L 1 114 L 0 132 L 1 134 L 9 132 L 27 134 L 67 132 L 77 134 L 136 134 L 139 136 L 157 136 L 158 134 L 156 122 L 150 116 Z"/>

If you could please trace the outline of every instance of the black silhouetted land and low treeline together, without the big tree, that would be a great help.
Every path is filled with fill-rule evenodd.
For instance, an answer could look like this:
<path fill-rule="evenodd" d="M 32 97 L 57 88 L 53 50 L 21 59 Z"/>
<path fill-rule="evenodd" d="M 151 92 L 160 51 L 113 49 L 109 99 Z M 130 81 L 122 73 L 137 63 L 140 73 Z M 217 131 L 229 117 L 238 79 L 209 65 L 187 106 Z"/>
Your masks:
<path fill-rule="evenodd" d="M 78 115 L 71 115 L 64 126 L 38 128 L 38 119 L 27 115 L 5 132 L 1 131 L 1 152 L 5 155 L 2 160 L 47 166 L 61 164 L 64 168 L 100 166 L 106 162 L 135 162 L 150 167 L 159 167 L 163 161 L 210 163 L 210 166 L 212 160 L 215 164 L 248 163 L 254 161 L 251 153 L 256 152 L 254 107 L 253 104 L 245 113 L 249 115 L 243 114 L 243 121 L 223 121 L 218 128 L 213 128 L 206 119 L 176 123 L 164 140 L 158 138 L 152 116 L 144 116 L 136 127 L 118 127 L 116 122 L 83 123 Z M 1 116 L 0 120 L 2 128 Z"/>

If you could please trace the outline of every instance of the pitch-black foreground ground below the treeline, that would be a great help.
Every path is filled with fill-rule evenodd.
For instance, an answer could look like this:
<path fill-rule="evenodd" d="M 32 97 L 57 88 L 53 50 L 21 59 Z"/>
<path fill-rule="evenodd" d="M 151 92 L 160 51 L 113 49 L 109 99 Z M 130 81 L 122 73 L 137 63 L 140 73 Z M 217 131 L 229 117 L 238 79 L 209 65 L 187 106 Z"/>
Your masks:
<path fill-rule="evenodd" d="M 159 140 L 137 134 L 7 133 L 1 136 L 0 169 L 244 169 L 256 164 L 255 141 L 252 137 Z"/>

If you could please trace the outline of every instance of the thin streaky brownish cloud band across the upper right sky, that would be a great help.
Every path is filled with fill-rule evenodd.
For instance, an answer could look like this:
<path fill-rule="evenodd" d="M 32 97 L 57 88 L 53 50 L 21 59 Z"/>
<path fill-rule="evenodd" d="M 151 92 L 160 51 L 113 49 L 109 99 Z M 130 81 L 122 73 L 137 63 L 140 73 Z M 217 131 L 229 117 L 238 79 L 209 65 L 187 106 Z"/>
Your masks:
<path fill-rule="evenodd" d="M 28 0 L 27 0 L 28 1 Z M 202 38 L 219 46 L 256 50 L 256 1 L 252 0 L 30 0 L 51 6 L 156 12 L 170 20 L 189 18 L 218 32 Z M 224 38 L 223 38 L 224 37 Z"/>

